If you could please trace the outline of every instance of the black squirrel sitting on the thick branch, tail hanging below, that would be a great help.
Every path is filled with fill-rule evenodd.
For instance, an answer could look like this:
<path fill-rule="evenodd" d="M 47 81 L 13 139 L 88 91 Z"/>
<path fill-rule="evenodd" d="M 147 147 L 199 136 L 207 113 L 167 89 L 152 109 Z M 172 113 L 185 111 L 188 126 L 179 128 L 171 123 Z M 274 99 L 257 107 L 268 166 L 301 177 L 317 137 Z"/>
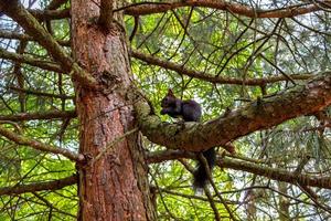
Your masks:
<path fill-rule="evenodd" d="M 171 117 L 182 117 L 184 122 L 200 122 L 201 117 L 201 106 L 193 99 L 182 101 L 177 98 L 172 91 L 169 90 L 168 94 L 163 97 L 161 102 L 161 115 L 168 114 Z M 210 169 L 215 165 L 216 152 L 215 148 L 211 148 L 202 152 L 203 157 L 206 159 Z M 201 160 L 197 161 L 196 170 L 193 173 L 194 189 L 203 189 L 207 183 L 207 173 L 204 165 Z"/>

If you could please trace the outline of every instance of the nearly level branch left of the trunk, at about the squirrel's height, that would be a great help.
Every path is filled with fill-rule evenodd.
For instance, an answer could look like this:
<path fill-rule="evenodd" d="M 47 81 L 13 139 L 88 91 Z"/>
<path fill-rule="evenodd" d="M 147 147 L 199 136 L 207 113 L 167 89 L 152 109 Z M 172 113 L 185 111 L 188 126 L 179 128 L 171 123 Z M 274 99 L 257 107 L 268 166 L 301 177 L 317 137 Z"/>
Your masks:
<path fill-rule="evenodd" d="M 62 119 L 74 118 L 77 114 L 75 110 L 60 112 L 41 112 L 41 113 L 21 113 L 14 115 L 0 115 L 0 120 L 23 122 L 33 119 Z"/>

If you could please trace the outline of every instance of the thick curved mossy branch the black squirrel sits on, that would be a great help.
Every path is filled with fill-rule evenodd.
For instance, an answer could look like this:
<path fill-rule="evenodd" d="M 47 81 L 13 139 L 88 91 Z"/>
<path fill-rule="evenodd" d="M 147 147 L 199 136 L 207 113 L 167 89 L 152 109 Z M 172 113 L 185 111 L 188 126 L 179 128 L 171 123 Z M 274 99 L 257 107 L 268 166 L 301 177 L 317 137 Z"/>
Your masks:
<path fill-rule="evenodd" d="M 259 98 L 226 116 L 205 123 L 182 125 L 162 123 L 143 101 L 135 104 L 139 126 L 154 144 L 172 149 L 202 151 L 225 145 L 256 130 L 270 128 L 287 119 L 313 114 L 331 104 L 331 73 L 325 72 L 297 86 Z"/>

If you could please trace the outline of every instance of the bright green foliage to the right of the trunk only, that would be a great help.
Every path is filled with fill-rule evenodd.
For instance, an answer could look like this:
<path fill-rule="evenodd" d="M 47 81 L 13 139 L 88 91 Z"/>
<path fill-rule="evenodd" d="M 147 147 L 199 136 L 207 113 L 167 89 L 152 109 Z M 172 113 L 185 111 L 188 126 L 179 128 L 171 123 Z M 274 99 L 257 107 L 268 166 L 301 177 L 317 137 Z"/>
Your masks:
<path fill-rule="evenodd" d="M 306 17 L 298 19 L 307 22 Z M 311 23 L 318 29 L 316 21 Z M 130 33 L 132 19 L 128 19 L 126 24 Z M 291 20 L 250 20 L 205 8 L 180 8 L 167 13 L 140 17 L 139 29 L 131 46 L 163 61 L 180 64 L 183 69 L 239 80 L 268 78 L 328 69 L 328 62 L 317 59 L 324 54 L 324 50 L 316 42 L 321 40 L 325 43 L 330 41 L 327 40 L 329 38 L 322 40 L 321 35 L 302 30 L 297 24 Z M 264 92 L 259 86 L 245 84 L 212 84 L 139 60 L 132 60 L 131 67 L 137 85 L 153 103 L 157 113 L 160 112 L 160 101 L 167 90 L 173 88 L 177 96 L 183 99 L 193 98 L 202 105 L 203 120 L 221 116 L 226 108 L 235 109 L 249 104 L 250 101 L 266 95 L 264 93 L 273 95 L 292 86 L 289 82 L 275 82 L 266 85 Z M 173 122 L 170 117 L 161 117 Z M 245 136 L 234 145 L 239 155 L 260 160 L 268 166 L 290 171 L 309 156 L 310 160 L 303 171 L 327 171 L 330 167 L 330 130 L 321 134 L 314 129 L 318 124 L 314 117 L 305 116 Z M 193 166 L 194 162 L 190 165 Z M 157 202 L 160 220 L 214 220 L 209 201 L 194 199 L 191 189 L 192 175 L 181 164 L 164 162 L 151 168 L 152 181 L 160 191 Z M 222 192 L 237 189 L 225 198 L 238 203 L 245 196 L 248 199 L 255 192 L 259 196 L 252 200 L 258 208 L 258 218 L 255 220 L 277 220 L 277 193 L 270 189 L 277 190 L 278 182 L 220 168 L 214 171 L 214 182 Z M 270 189 L 257 189 L 248 193 L 245 187 L 249 186 L 266 186 Z M 289 194 L 299 194 L 298 189 L 289 186 L 287 188 Z M 211 191 L 214 192 L 213 189 Z M 213 199 L 217 200 L 216 197 Z M 306 202 L 309 198 L 302 196 L 301 199 Z M 291 202 L 298 203 L 293 200 Z M 231 208 L 235 210 L 236 206 Z M 309 206 L 303 206 L 302 210 L 290 208 L 290 215 L 293 217 L 314 210 Z M 217 204 L 217 209 L 220 214 L 227 217 L 222 203 Z M 245 210 L 245 207 L 236 210 L 236 214 L 244 218 Z"/>

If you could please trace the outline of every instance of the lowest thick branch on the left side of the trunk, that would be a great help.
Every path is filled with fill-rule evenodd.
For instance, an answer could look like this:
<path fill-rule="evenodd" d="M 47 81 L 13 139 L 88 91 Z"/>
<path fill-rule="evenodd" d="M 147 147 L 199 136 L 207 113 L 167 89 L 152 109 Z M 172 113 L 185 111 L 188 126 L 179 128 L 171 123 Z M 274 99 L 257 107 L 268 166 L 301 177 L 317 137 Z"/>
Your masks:
<path fill-rule="evenodd" d="M 76 185 L 77 176 L 73 175 L 71 177 L 66 177 L 58 180 L 44 181 L 44 182 L 35 182 L 30 185 L 18 185 L 14 187 L 2 187 L 0 188 L 0 196 L 2 194 L 21 194 L 25 192 L 36 192 L 43 190 L 60 190 L 64 187 Z"/>

